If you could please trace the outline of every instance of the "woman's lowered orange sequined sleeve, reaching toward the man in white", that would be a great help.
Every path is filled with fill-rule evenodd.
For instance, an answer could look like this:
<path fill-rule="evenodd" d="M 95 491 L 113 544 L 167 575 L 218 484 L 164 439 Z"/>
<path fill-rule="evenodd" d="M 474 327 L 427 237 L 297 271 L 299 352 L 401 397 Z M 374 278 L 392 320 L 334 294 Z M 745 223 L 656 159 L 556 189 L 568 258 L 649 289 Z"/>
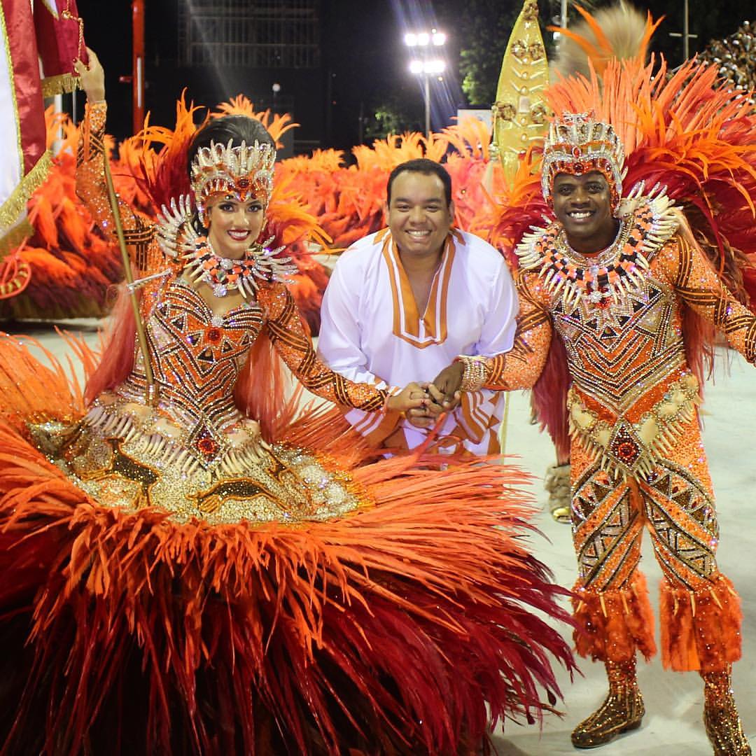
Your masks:
<path fill-rule="evenodd" d="M 271 343 L 306 389 L 346 407 L 366 412 L 383 409 L 389 391 L 353 383 L 318 359 L 294 298 L 283 283 L 260 287 L 257 299 L 265 311 Z"/>

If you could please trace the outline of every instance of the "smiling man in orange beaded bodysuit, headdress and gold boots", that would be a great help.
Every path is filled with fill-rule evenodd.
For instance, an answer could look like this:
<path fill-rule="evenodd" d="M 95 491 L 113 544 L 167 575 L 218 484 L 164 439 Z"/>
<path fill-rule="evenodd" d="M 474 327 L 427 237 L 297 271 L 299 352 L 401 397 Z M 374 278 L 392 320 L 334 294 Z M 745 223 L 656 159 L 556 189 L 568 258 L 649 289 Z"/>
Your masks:
<path fill-rule="evenodd" d="M 641 185 L 621 199 L 623 165 L 611 125 L 587 114 L 555 120 L 541 190 L 557 220 L 517 248 L 515 347 L 494 358 L 457 358 L 435 385 L 531 388 L 555 349 L 553 332 L 566 351 L 576 643 L 581 655 L 605 662 L 609 677 L 609 696 L 578 725 L 573 744 L 602 745 L 639 727 L 644 714 L 635 657 L 656 650 L 638 569 L 645 525 L 664 573 L 662 661 L 705 680 L 715 753 L 750 754 L 730 690 L 742 615 L 715 559 L 694 318 L 754 362 L 756 317 L 723 286 L 664 191 L 643 196 Z"/>

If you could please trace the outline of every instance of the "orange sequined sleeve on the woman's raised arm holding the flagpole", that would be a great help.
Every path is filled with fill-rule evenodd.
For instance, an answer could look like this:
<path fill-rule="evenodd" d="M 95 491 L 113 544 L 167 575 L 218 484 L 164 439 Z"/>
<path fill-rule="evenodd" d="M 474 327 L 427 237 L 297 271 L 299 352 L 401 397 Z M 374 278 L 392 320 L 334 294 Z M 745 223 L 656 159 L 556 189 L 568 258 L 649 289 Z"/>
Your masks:
<path fill-rule="evenodd" d="M 79 148 L 76 152 L 76 194 L 87 206 L 98 228 L 111 240 L 116 240 L 116 227 L 105 183 L 105 115 L 104 102 L 87 103 L 84 120 L 79 133 Z M 140 270 L 145 268 L 147 247 L 153 237 L 154 227 L 140 218 L 122 200 L 118 200 L 125 242 L 132 248 L 133 257 Z"/>

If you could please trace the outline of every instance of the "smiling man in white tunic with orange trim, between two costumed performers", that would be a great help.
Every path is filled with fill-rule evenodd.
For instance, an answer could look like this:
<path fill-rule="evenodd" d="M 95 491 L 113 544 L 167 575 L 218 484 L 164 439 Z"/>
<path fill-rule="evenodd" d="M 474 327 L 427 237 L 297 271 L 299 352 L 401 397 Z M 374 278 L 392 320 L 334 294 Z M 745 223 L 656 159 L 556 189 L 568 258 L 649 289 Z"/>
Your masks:
<path fill-rule="evenodd" d="M 426 159 L 397 166 L 386 219 L 388 228 L 349 247 L 333 270 L 321 309 L 324 361 L 351 380 L 405 386 L 432 381 L 457 355 L 511 349 L 518 305 L 510 272 L 490 244 L 451 228 L 446 169 Z M 407 417 L 352 410 L 346 418 L 376 447 L 411 449 L 438 420 L 433 395 Z M 466 392 L 435 444 L 496 453 L 502 407 L 494 392 Z"/>

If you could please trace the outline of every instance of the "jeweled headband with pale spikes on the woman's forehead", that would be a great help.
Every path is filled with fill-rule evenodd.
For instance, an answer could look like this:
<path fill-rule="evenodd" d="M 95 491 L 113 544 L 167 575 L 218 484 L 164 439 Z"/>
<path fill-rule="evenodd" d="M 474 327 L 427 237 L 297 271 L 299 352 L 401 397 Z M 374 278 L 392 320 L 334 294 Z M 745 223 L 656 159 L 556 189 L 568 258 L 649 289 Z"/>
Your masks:
<path fill-rule="evenodd" d="M 227 194 L 239 202 L 249 198 L 262 200 L 265 205 L 273 191 L 273 170 L 276 150 L 272 144 L 238 147 L 211 141 L 209 147 L 200 147 L 191 163 L 191 187 L 194 201 L 203 216 L 212 194 Z"/>

